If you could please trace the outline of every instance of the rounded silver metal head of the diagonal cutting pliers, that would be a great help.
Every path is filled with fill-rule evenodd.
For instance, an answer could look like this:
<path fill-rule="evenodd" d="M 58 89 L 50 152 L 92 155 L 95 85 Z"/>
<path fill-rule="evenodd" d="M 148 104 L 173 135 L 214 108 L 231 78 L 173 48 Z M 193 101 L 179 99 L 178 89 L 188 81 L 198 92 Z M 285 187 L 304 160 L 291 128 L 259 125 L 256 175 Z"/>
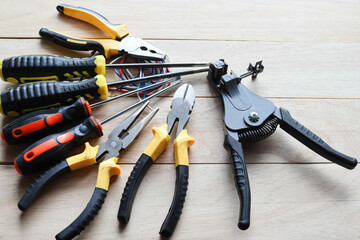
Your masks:
<path fill-rule="evenodd" d="M 184 84 L 176 90 L 168 113 L 167 124 L 170 134 L 175 122 L 178 121 L 176 136 L 185 128 L 195 104 L 195 91 L 190 84 Z"/>

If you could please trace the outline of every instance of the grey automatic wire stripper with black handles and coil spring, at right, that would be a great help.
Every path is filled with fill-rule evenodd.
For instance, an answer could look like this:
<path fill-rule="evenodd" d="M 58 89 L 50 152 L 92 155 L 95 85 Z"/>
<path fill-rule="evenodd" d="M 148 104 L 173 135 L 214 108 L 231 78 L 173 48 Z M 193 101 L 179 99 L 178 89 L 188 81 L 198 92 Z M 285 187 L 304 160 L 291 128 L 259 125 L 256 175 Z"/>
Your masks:
<path fill-rule="evenodd" d="M 277 108 L 270 100 L 241 84 L 243 78 L 255 78 L 263 69 L 262 62 L 257 62 L 255 66 L 250 64 L 248 72 L 241 76 L 232 72 L 227 74 L 227 64 L 219 60 L 210 65 L 207 76 L 224 109 L 224 146 L 232 156 L 235 185 L 240 198 L 238 227 L 241 230 L 250 226 L 250 185 L 242 143 L 261 141 L 273 134 L 280 125 L 285 132 L 322 157 L 347 169 L 353 169 L 357 165 L 355 158 L 330 147 L 292 118 L 288 110 Z"/>

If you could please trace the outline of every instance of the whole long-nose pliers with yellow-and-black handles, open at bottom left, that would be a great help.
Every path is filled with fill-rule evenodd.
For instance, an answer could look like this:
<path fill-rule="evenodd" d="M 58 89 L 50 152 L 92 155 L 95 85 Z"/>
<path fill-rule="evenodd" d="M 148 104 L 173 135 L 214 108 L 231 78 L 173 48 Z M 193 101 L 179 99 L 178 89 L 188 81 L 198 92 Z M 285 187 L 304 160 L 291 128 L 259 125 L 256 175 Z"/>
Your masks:
<path fill-rule="evenodd" d="M 90 224 L 101 209 L 108 192 L 110 178 L 114 175 L 120 174 L 120 166 L 116 164 L 118 161 L 118 155 L 135 140 L 141 130 L 144 129 L 144 127 L 157 113 L 158 109 L 153 110 L 133 128 L 131 128 L 148 104 L 149 102 L 146 102 L 133 114 L 121 122 L 110 133 L 106 142 L 103 142 L 95 147 L 86 143 L 85 151 L 83 153 L 69 157 L 45 171 L 26 190 L 25 194 L 18 203 L 19 209 L 25 211 L 31 203 L 34 202 L 44 187 L 59 176 L 67 172 L 91 166 L 100 162 L 102 159 L 105 159 L 99 164 L 96 187 L 86 208 L 78 218 L 56 235 L 56 239 L 72 239 L 79 235 L 85 227 Z"/>

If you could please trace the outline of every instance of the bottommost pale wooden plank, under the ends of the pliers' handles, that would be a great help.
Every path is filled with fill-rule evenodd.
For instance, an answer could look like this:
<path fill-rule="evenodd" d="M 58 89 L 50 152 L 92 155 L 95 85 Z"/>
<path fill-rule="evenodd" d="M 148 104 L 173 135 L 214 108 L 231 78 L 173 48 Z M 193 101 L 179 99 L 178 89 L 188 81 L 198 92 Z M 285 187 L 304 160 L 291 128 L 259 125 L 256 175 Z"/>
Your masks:
<path fill-rule="evenodd" d="M 133 165 L 121 165 L 102 210 L 80 239 L 157 239 L 170 206 L 172 165 L 154 165 L 140 186 L 129 224 L 119 228 L 119 200 Z M 358 239 L 359 169 L 334 165 L 249 164 L 251 226 L 240 231 L 238 196 L 228 164 L 192 164 L 183 214 L 172 239 Z M 16 206 L 33 177 L 0 166 L 3 239 L 51 239 L 85 207 L 96 167 L 62 177 L 25 213 Z"/>

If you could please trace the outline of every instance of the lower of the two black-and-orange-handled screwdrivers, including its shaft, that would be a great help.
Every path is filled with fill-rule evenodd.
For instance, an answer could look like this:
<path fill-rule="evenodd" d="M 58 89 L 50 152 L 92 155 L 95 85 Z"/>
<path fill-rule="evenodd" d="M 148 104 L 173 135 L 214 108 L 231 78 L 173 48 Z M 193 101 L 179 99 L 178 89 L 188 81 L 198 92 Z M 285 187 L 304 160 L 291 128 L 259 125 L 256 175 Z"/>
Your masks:
<path fill-rule="evenodd" d="M 150 98 L 164 93 L 165 91 L 180 84 L 182 80 L 177 80 L 172 85 L 148 96 L 141 101 L 127 107 L 126 109 L 104 119 L 102 122 L 90 116 L 84 122 L 61 133 L 46 136 L 33 143 L 30 147 L 22 151 L 15 159 L 15 169 L 23 175 L 44 170 L 60 160 L 68 157 L 70 152 L 77 146 L 84 144 L 89 139 L 101 137 L 103 135 L 102 125 L 118 117 L 122 113 L 147 102 Z"/>

